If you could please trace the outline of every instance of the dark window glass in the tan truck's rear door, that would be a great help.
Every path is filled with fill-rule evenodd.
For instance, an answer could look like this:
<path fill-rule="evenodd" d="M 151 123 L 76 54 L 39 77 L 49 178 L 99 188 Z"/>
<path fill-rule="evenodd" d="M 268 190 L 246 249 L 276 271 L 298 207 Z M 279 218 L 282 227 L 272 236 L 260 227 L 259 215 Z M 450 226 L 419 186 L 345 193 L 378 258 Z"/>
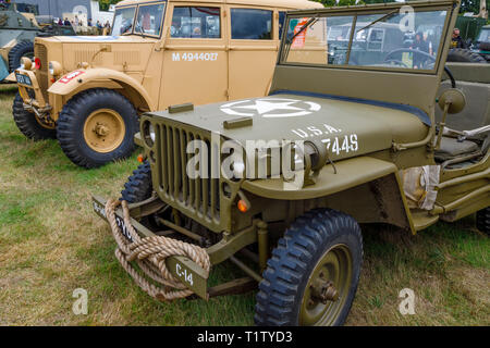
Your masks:
<path fill-rule="evenodd" d="M 234 40 L 272 39 L 272 11 L 232 9 L 231 25 Z"/>

